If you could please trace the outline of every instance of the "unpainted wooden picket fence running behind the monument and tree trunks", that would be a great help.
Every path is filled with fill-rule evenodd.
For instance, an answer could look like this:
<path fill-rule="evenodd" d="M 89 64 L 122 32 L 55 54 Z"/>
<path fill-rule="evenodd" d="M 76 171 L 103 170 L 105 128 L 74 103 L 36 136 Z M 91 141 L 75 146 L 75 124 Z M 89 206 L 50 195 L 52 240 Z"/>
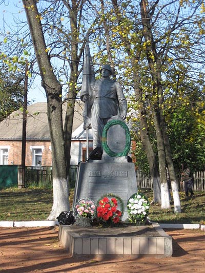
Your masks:
<path fill-rule="evenodd" d="M 75 187 L 75 180 L 77 175 L 77 166 L 71 165 L 70 170 L 70 188 Z M 205 191 L 205 171 L 194 172 L 194 191 Z M 147 176 L 144 172 L 136 171 L 137 187 L 138 188 L 152 188 L 151 176 Z M 52 166 L 49 167 L 26 167 L 26 186 L 46 186 L 52 187 Z M 183 191 L 184 185 L 179 185 L 180 190 Z"/>

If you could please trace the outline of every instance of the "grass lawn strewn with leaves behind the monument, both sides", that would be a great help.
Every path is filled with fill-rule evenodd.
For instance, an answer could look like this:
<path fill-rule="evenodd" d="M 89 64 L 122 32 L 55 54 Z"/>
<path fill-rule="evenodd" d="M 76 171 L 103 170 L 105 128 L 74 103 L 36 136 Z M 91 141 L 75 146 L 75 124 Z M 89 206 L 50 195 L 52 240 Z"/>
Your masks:
<path fill-rule="evenodd" d="M 152 191 L 143 191 L 152 201 Z M 72 207 L 73 190 L 70 203 Z M 152 205 L 149 218 L 158 223 L 205 224 L 205 192 L 195 192 L 190 200 L 180 193 L 182 213 L 174 214 L 171 209 L 162 210 L 160 205 Z M 7 188 L 0 191 L 0 221 L 36 221 L 46 220 L 52 208 L 52 189 L 45 188 Z"/>

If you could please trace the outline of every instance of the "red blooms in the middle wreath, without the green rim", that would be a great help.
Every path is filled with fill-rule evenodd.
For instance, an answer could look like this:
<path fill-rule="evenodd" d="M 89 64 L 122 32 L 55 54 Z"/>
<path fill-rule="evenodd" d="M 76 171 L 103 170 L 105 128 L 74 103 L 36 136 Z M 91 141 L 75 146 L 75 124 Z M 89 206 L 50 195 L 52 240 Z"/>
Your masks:
<path fill-rule="evenodd" d="M 97 217 L 100 221 L 104 223 L 118 223 L 122 213 L 117 209 L 117 199 L 104 197 L 99 200 L 99 205 L 97 207 Z"/>

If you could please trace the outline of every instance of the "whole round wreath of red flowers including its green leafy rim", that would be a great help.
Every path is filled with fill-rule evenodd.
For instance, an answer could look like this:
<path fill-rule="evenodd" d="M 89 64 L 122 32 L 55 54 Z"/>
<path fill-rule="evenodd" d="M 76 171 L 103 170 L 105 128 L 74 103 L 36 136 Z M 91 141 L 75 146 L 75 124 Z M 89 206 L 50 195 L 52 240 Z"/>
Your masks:
<path fill-rule="evenodd" d="M 112 225 L 120 222 L 124 213 L 124 204 L 120 197 L 106 194 L 97 202 L 97 218 L 103 224 Z M 121 211 L 117 209 L 120 207 Z"/>

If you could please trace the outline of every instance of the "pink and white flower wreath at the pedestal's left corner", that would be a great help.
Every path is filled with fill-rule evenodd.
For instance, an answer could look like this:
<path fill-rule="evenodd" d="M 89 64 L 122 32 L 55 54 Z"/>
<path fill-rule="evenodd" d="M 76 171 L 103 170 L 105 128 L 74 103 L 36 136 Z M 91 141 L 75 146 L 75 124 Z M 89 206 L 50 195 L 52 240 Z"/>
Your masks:
<path fill-rule="evenodd" d="M 75 204 L 74 216 L 76 219 L 89 218 L 93 220 L 96 217 L 96 206 L 91 199 L 80 199 Z"/>

